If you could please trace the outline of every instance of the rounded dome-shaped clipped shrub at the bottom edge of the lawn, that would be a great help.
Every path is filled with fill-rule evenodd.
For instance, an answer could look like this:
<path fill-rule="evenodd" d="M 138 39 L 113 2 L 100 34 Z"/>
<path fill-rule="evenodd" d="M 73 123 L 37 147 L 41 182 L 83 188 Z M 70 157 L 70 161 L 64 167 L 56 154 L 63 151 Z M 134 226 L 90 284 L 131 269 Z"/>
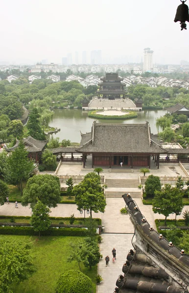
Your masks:
<path fill-rule="evenodd" d="M 64 272 L 56 283 L 56 293 L 92 293 L 91 279 L 77 270 Z"/>

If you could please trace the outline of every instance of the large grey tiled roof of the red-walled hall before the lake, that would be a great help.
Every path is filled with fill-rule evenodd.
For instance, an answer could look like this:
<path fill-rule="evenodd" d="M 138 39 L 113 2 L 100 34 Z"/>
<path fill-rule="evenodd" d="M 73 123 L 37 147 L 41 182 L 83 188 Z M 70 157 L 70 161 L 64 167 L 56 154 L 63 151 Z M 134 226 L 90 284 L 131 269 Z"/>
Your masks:
<path fill-rule="evenodd" d="M 149 124 L 101 124 L 94 121 L 92 132 L 82 134 L 79 152 L 164 153 L 151 142 Z"/>

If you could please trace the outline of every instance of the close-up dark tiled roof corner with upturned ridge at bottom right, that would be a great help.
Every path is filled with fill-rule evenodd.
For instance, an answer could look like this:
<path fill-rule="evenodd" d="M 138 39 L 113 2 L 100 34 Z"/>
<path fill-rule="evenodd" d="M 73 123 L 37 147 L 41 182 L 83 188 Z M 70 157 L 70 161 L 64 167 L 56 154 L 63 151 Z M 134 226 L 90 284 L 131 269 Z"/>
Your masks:
<path fill-rule="evenodd" d="M 123 259 L 124 274 L 119 275 L 114 292 L 189 292 L 189 255 L 148 224 L 132 197 L 122 197 L 135 227 L 136 241 Z"/>

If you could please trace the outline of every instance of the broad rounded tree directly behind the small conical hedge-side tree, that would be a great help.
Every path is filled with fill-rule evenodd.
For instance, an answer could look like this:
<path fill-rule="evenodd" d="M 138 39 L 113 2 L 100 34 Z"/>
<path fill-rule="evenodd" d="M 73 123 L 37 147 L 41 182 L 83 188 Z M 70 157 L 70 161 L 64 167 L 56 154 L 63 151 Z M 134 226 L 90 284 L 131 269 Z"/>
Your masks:
<path fill-rule="evenodd" d="M 33 209 L 39 200 L 49 208 L 57 206 L 61 200 L 60 181 L 57 176 L 45 174 L 29 178 L 24 188 L 22 205 L 26 207 L 30 203 Z"/>

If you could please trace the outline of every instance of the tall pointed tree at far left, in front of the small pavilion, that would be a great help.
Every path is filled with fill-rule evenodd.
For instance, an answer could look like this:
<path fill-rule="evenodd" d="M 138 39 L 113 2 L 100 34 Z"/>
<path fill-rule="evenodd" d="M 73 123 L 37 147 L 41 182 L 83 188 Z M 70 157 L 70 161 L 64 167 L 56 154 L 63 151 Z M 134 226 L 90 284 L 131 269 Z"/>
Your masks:
<path fill-rule="evenodd" d="M 18 147 L 8 156 L 4 168 L 5 181 L 18 187 L 21 195 L 23 195 L 23 181 L 29 178 L 35 168 L 33 161 L 27 155 L 23 141 L 20 140 Z"/>

